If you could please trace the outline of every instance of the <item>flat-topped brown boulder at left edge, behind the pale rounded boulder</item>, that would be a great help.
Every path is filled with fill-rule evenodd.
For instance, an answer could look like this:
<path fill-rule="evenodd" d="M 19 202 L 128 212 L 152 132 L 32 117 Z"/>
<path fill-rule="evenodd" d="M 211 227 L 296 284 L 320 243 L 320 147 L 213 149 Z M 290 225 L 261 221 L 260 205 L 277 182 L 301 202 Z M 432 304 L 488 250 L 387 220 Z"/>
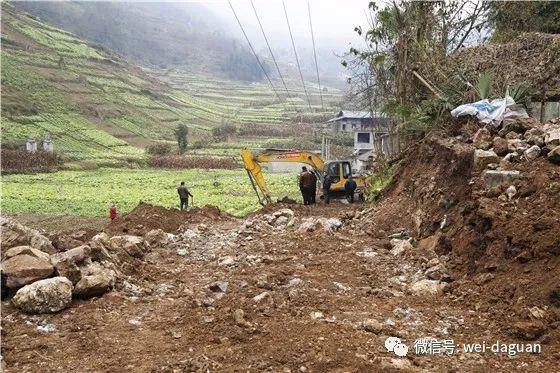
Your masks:
<path fill-rule="evenodd" d="M 2 263 L 6 286 L 17 289 L 34 281 L 47 278 L 54 272 L 51 262 L 44 257 L 27 254 L 13 256 Z"/>

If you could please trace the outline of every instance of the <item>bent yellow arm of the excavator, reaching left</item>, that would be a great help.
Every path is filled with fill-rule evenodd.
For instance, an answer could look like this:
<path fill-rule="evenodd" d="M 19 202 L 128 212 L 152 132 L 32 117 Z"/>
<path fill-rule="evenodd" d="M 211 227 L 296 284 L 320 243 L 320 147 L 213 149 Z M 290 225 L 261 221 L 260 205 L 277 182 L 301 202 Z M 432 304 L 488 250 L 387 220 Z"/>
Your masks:
<path fill-rule="evenodd" d="M 272 201 L 270 191 L 266 187 L 264 175 L 262 173 L 261 163 L 269 162 L 290 162 L 290 163 L 304 163 L 313 169 L 319 180 L 322 180 L 323 167 L 325 166 L 323 160 L 317 155 L 305 151 L 286 151 L 286 150 L 269 150 L 263 153 L 253 155 L 247 148 L 241 150 L 241 158 L 243 164 L 253 185 L 253 189 L 257 193 L 259 202 L 265 204 Z M 260 190 L 260 194 L 259 194 Z"/>

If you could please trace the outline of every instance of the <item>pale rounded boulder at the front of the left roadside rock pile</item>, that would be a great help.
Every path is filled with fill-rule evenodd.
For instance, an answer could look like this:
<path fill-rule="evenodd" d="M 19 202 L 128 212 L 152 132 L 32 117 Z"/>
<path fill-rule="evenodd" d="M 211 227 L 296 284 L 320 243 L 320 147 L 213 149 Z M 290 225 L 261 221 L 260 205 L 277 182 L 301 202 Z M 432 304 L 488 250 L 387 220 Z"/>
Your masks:
<path fill-rule="evenodd" d="M 58 312 L 72 302 L 72 282 L 66 277 L 53 277 L 19 289 L 12 303 L 26 313 Z"/>

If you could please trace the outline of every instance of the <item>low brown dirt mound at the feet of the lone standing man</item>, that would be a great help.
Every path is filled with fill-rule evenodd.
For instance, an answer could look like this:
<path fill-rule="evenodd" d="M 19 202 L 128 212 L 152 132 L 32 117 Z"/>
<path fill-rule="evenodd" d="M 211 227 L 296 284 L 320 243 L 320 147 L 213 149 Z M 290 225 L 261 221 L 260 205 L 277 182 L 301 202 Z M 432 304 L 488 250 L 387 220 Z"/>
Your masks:
<path fill-rule="evenodd" d="M 134 210 L 111 222 L 105 231 L 111 235 L 122 233 L 143 235 L 152 229 L 175 233 L 184 225 L 211 224 L 228 220 L 235 220 L 235 218 L 212 205 L 181 211 L 141 202 Z"/>

